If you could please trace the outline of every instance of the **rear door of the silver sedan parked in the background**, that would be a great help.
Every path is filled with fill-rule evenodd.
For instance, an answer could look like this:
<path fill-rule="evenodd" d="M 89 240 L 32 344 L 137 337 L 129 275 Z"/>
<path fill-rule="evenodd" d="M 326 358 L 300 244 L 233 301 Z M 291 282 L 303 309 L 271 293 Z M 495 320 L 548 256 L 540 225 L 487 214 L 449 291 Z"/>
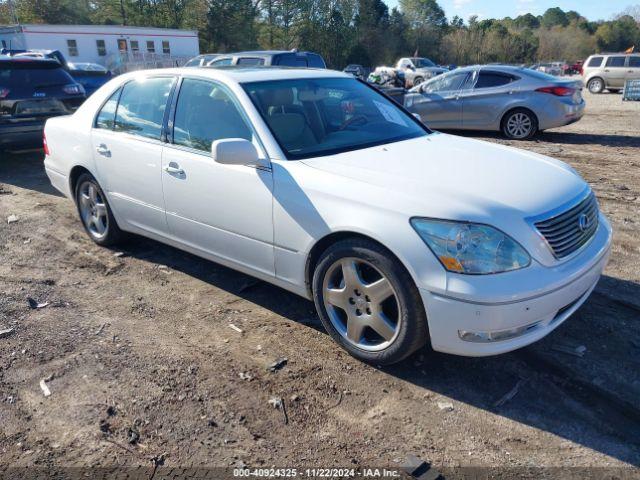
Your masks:
<path fill-rule="evenodd" d="M 517 77 L 509 73 L 480 70 L 472 88 L 462 94 L 464 128 L 484 130 L 495 126 L 510 95 L 516 92 Z"/>

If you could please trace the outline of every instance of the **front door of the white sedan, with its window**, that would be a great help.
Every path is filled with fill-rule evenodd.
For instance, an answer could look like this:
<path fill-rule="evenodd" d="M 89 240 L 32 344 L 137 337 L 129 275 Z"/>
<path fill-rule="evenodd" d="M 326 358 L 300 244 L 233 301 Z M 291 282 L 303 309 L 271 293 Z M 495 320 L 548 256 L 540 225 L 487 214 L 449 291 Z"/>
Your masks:
<path fill-rule="evenodd" d="M 273 275 L 271 169 L 223 165 L 211 157 L 211 143 L 224 138 L 250 140 L 263 152 L 249 125 L 226 87 L 182 81 L 162 155 L 167 222 L 187 246 Z"/>

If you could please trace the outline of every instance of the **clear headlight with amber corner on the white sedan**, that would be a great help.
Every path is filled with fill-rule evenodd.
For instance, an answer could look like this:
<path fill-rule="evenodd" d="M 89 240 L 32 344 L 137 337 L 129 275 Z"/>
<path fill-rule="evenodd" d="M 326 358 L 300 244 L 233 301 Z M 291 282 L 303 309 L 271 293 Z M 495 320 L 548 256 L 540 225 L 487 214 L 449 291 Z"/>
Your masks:
<path fill-rule="evenodd" d="M 489 225 L 426 218 L 413 218 L 411 225 L 450 272 L 500 273 L 531 263 L 518 242 Z"/>

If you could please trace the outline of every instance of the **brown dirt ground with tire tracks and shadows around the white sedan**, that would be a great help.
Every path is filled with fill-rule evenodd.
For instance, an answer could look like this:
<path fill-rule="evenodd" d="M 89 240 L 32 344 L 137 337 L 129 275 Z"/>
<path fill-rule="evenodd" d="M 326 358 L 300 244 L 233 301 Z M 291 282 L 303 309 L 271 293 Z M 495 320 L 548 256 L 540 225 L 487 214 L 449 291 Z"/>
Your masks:
<path fill-rule="evenodd" d="M 4 154 L 0 330 L 13 332 L 0 338 L 0 477 L 153 458 L 158 472 L 397 467 L 409 454 L 445 470 L 640 476 L 640 102 L 585 95 L 582 121 L 532 141 L 466 134 L 570 163 L 615 230 L 588 302 L 537 344 L 492 358 L 425 349 L 394 367 L 362 364 L 306 300 L 143 238 L 94 245 L 42 153 Z M 559 351 L 578 346 L 582 356 Z"/>

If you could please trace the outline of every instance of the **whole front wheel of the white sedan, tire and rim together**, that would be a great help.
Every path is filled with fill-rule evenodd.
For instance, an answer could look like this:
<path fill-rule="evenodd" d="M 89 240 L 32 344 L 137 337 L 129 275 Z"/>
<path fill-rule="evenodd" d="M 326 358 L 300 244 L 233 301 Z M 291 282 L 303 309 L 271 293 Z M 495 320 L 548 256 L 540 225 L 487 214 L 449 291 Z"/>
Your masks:
<path fill-rule="evenodd" d="M 410 275 L 385 248 L 344 240 L 313 275 L 320 320 L 342 348 L 376 365 L 399 362 L 427 343 L 427 318 Z"/>

